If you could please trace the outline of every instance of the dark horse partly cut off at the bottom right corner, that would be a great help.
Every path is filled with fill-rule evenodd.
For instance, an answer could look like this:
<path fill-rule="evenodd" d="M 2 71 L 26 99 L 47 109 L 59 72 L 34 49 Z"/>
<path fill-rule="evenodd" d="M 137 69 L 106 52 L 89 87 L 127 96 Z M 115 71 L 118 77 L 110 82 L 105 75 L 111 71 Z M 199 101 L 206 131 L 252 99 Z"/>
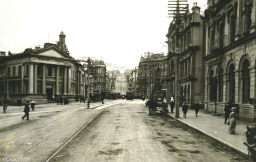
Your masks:
<path fill-rule="evenodd" d="M 250 156 L 252 160 L 256 162 L 256 127 L 249 127 L 246 125 L 246 128 L 247 131 L 245 134 L 247 142 L 244 142 L 244 145 L 248 147 L 248 157 Z"/>

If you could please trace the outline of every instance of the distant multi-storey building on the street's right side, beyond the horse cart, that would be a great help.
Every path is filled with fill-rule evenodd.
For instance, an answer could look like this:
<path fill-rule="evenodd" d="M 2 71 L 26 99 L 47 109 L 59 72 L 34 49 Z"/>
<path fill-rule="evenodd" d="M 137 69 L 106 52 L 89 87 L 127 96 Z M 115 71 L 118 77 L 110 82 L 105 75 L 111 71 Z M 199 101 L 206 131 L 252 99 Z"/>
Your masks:
<path fill-rule="evenodd" d="M 138 96 L 166 98 L 166 68 L 164 53 L 148 53 L 140 58 L 138 66 Z"/>

